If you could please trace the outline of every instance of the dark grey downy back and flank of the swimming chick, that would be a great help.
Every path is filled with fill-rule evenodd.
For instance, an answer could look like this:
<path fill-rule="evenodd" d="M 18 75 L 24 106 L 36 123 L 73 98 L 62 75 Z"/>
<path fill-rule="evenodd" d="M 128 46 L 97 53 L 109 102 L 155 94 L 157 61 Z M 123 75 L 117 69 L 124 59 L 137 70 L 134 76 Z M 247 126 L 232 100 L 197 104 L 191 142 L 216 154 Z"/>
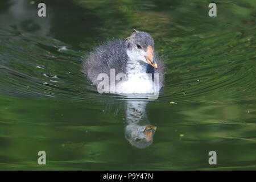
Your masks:
<path fill-rule="evenodd" d="M 95 48 L 83 65 L 82 72 L 97 85 L 97 77 L 100 73 L 106 73 L 110 77 L 110 69 L 115 69 L 115 75 L 126 73 L 126 43 L 125 40 L 113 40 Z"/>

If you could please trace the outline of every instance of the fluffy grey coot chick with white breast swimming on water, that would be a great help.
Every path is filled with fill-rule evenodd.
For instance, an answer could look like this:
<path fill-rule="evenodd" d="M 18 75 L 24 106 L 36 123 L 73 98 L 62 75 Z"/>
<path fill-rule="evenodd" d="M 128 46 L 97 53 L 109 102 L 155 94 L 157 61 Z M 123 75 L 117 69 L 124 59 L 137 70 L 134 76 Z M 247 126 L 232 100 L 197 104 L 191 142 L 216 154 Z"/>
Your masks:
<path fill-rule="evenodd" d="M 115 69 L 115 75 L 126 75 L 122 84 L 117 85 L 115 80 L 116 93 L 153 93 L 155 73 L 157 89 L 163 84 L 163 64 L 154 52 L 154 40 L 146 32 L 136 31 L 126 40 L 113 40 L 97 47 L 86 58 L 83 72 L 98 85 L 98 75 L 106 73 L 110 78 L 110 69 Z"/>

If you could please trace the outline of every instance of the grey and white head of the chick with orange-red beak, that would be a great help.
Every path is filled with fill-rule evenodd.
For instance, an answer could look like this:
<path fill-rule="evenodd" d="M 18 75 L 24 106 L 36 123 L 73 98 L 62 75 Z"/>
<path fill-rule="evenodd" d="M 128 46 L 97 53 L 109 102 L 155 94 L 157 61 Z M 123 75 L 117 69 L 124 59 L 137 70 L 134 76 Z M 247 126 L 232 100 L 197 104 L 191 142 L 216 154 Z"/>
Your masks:
<path fill-rule="evenodd" d="M 158 68 L 154 60 L 154 40 L 146 32 L 136 31 L 126 40 L 127 55 L 132 61 L 143 61 Z"/>

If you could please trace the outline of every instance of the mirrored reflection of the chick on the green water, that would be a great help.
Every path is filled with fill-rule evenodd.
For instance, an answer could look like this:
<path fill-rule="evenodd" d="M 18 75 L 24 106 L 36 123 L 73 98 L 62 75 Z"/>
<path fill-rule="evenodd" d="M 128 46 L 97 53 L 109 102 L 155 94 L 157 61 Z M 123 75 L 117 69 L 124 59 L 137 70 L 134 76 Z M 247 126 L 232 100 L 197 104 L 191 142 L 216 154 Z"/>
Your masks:
<path fill-rule="evenodd" d="M 150 146 L 156 130 L 156 126 L 151 126 L 147 119 L 146 104 L 129 101 L 126 105 L 125 138 L 137 148 Z"/>

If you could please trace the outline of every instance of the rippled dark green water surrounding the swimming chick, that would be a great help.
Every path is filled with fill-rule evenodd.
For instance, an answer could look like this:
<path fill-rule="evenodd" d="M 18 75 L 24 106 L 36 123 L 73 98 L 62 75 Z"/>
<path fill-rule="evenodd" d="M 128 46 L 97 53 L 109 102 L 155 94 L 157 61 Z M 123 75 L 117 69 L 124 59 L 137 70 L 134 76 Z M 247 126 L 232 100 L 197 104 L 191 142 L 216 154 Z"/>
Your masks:
<path fill-rule="evenodd" d="M 256 1 L 214 1 L 215 18 L 210 2 L 1 0 L 0 169 L 256 169 Z M 157 100 L 98 94 L 80 72 L 133 28 L 166 64 Z M 157 126 L 143 149 L 126 137 L 138 106 Z"/>

